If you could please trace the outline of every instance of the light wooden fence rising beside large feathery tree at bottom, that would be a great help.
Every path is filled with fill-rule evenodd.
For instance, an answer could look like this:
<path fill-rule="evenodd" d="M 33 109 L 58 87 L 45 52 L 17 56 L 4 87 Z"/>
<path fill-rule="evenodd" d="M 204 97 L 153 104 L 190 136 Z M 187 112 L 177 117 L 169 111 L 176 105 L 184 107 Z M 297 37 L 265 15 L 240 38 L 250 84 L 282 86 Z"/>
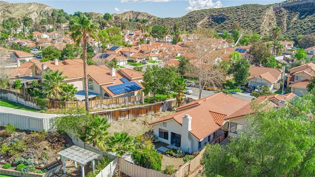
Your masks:
<path fill-rule="evenodd" d="M 190 172 L 194 172 L 200 167 L 202 156 L 205 152 L 205 148 L 203 148 L 199 154 L 190 160 L 189 162 L 185 163 L 178 171 L 176 171 L 172 177 L 185 177 Z"/>

